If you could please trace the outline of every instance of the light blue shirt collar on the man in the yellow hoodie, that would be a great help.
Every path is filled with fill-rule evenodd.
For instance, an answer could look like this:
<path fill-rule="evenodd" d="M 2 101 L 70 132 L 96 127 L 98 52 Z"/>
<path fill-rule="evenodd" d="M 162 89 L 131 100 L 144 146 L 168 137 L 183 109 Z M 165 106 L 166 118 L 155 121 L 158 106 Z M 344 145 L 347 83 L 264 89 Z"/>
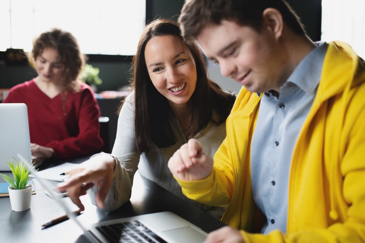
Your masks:
<path fill-rule="evenodd" d="M 323 60 L 328 47 L 326 42 L 315 42 L 315 44 L 317 47 L 301 60 L 287 82 L 285 82 L 285 84 L 288 82 L 294 83 L 308 94 L 312 94 L 319 84 Z"/>

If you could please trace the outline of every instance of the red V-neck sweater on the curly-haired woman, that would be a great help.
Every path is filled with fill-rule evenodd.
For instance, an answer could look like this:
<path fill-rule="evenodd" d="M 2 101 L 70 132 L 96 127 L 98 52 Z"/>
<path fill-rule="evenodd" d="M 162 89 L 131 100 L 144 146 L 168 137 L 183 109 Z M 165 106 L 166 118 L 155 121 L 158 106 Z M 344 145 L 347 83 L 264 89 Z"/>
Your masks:
<path fill-rule="evenodd" d="M 66 97 L 59 94 L 51 99 L 32 79 L 12 87 L 3 101 L 26 103 L 30 141 L 53 148 L 55 159 L 85 156 L 103 146 L 99 136 L 99 106 L 92 89 L 79 83 L 79 92 L 68 92 Z"/>

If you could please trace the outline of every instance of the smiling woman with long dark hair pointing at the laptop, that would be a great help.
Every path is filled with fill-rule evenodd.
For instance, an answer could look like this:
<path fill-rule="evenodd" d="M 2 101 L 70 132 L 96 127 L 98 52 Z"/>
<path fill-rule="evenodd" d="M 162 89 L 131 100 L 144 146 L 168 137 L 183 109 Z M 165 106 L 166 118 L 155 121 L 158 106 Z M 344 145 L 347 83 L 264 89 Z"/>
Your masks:
<path fill-rule="evenodd" d="M 176 23 L 160 19 L 146 26 L 132 68 L 132 93 L 120 107 L 112 155 L 93 156 L 59 187 L 68 190 L 81 209 L 78 197 L 91 187 L 88 193 L 98 207 L 120 207 L 130 198 L 137 169 L 189 200 L 167 167 L 169 158 L 189 138 L 199 140 L 213 156 L 226 137 L 225 121 L 235 96 L 207 78 L 203 56 L 194 44 L 183 41 Z M 191 203 L 218 218 L 224 211 Z"/>

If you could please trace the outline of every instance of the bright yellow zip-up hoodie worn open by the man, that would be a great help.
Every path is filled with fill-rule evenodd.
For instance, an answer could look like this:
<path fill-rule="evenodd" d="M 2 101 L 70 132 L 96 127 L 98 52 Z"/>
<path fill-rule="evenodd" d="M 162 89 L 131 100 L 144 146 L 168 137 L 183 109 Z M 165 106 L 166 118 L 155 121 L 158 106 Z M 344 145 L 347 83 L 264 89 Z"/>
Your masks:
<path fill-rule="evenodd" d="M 345 43 L 328 44 L 316 97 L 293 151 L 286 234 L 246 232 L 252 230 L 256 209 L 250 144 L 260 99 L 241 89 L 212 173 L 199 181 L 178 180 L 183 193 L 227 207 L 222 221 L 241 229 L 246 242 L 364 242 L 364 60 Z"/>

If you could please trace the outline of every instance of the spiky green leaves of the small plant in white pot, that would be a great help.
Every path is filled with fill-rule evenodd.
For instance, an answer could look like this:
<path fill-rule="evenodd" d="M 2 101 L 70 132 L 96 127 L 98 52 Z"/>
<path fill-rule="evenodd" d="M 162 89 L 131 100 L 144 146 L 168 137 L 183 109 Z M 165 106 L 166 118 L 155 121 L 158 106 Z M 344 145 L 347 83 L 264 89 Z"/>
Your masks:
<path fill-rule="evenodd" d="M 28 176 L 29 170 L 26 169 L 25 165 L 23 165 L 21 160 L 19 163 L 17 160 L 15 160 L 15 161 L 16 161 L 15 164 L 14 164 L 13 160 L 11 160 L 11 162 L 8 161 L 9 167 L 14 176 L 14 181 L 5 174 L 0 174 L 0 176 L 3 177 L 3 179 L 5 181 L 7 181 L 7 183 L 12 185 L 12 187 L 14 187 L 17 190 L 21 190 L 21 189 L 24 189 L 26 187 L 26 185 L 28 184 L 28 181 L 30 179 L 30 177 Z M 32 165 L 34 165 L 34 163 L 35 162 L 33 162 Z"/>

